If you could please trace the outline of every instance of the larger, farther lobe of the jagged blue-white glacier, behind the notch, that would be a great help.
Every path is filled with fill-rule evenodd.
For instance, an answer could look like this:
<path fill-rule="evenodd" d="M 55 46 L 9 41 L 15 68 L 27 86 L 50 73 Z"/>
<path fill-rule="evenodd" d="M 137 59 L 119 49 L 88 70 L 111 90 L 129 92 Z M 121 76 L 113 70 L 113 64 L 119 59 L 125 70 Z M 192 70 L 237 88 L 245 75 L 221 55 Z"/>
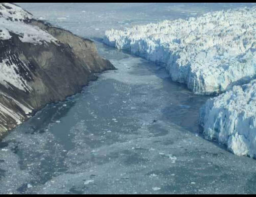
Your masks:
<path fill-rule="evenodd" d="M 256 7 L 105 32 L 104 42 L 166 66 L 196 94 L 224 92 L 256 74 Z"/>

